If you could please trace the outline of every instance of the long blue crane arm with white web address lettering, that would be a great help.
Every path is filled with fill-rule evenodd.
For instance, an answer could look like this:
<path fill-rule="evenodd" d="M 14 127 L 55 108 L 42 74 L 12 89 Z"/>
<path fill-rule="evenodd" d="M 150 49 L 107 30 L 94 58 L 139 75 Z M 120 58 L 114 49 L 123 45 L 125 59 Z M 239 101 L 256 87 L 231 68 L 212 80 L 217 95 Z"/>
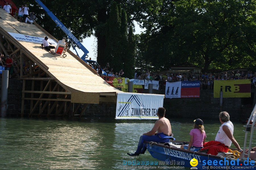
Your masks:
<path fill-rule="evenodd" d="M 57 24 L 57 27 L 59 26 L 68 36 L 68 38 L 72 39 L 75 44 L 84 52 L 84 55 L 81 57 L 82 59 L 85 59 L 88 57 L 89 51 L 82 45 L 82 43 L 65 27 L 64 24 L 60 22 L 60 20 L 40 1 L 40 0 L 35 0 L 51 17 L 51 19 Z"/>

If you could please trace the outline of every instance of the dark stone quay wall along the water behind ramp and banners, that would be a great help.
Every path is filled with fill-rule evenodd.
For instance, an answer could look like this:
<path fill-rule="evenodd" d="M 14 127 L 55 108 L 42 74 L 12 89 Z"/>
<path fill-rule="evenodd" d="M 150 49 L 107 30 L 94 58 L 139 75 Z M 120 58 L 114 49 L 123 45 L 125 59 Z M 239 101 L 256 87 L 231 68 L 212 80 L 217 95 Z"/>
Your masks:
<path fill-rule="evenodd" d="M 22 80 L 9 79 L 7 105 L 7 116 L 9 117 L 20 117 L 21 90 Z M 237 118 L 238 120 L 249 118 L 256 102 L 255 91 L 256 89 L 251 90 L 251 98 L 223 98 L 222 111 L 227 111 L 232 118 Z M 148 90 L 144 89 L 144 93 L 148 93 Z M 153 93 L 164 94 L 164 90 L 153 90 Z M 213 90 L 200 90 L 199 98 L 166 98 L 164 99 L 164 107 L 166 108 L 166 116 L 168 118 L 216 119 L 216 114 L 220 112 L 219 102 L 219 98 L 213 97 Z M 29 104 L 25 102 L 24 112 L 29 112 Z M 115 111 L 115 104 L 89 104 L 83 117 L 115 118 Z"/>

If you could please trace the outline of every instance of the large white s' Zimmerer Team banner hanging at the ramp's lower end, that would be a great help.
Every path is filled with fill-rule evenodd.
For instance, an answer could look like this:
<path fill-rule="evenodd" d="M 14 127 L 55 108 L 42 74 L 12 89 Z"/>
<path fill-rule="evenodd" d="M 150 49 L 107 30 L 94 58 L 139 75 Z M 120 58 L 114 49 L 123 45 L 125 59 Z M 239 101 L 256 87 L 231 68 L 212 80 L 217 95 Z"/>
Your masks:
<path fill-rule="evenodd" d="M 116 119 L 158 119 L 157 111 L 163 107 L 164 95 L 118 93 Z"/>

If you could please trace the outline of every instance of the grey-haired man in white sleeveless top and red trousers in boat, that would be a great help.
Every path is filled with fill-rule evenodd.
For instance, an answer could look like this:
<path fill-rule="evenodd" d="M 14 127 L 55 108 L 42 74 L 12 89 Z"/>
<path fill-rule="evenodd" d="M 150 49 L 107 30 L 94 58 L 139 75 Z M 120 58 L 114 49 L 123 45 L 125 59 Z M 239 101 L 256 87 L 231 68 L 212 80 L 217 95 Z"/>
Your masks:
<path fill-rule="evenodd" d="M 229 120 L 228 112 L 220 112 L 219 119 L 221 126 L 216 135 L 215 141 L 204 143 L 204 148 L 201 150 L 209 149 L 207 154 L 217 155 L 218 152 L 228 152 L 228 148 L 231 143 L 233 143 L 238 148 L 239 152 L 242 152 L 243 150 L 240 148 L 233 136 L 234 126 Z"/>

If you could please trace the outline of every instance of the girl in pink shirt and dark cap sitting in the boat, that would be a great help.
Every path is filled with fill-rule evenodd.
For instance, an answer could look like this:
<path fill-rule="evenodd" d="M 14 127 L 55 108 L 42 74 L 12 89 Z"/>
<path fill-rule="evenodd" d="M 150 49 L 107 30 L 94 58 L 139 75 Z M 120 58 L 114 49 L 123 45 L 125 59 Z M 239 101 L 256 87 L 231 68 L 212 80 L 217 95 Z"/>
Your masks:
<path fill-rule="evenodd" d="M 199 151 L 203 148 L 203 143 L 205 143 L 205 128 L 203 126 L 203 120 L 197 119 L 194 120 L 194 129 L 189 133 L 190 141 L 188 145 L 181 145 L 181 149 L 190 150 L 190 151 Z"/>

